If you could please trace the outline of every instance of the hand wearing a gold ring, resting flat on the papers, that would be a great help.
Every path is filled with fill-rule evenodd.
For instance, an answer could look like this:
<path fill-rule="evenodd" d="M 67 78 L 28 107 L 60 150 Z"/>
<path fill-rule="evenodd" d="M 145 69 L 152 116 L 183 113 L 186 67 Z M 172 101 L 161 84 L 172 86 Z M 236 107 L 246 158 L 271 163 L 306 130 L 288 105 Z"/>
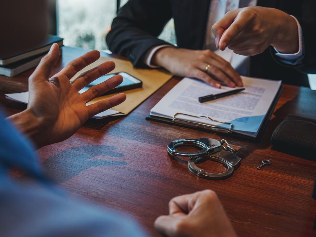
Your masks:
<path fill-rule="evenodd" d="M 173 75 L 197 78 L 216 88 L 221 87 L 220 83 L 229 87 L 242 86 L 241 77 L 234 68 L 210 50 L 164 47 L 155 52 L 151 62 Z M 210 65 L 208 70 L 205 69 L 207 65 Z"/>

